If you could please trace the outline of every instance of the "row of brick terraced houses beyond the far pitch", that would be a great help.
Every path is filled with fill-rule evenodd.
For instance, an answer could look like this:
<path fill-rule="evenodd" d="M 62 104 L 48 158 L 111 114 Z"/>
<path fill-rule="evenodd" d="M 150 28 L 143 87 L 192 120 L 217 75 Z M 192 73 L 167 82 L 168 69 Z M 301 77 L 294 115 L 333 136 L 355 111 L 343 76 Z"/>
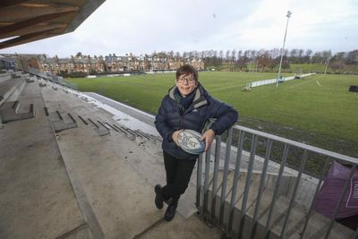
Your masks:
<path fill-rule="evenodd" d="M 54 74 L 61 73 L 120 73 L 132 71 L 173 71 L 183 64 L 192 64 L 196 69 L 203 70 L 205 65 L 201 59 L 194 57 L 171 57 L 167 55 L 72 55 L 59 58 L 47 55 L 3 54 L 0 59 L 9 59 L 13 67 L 27 70 L 29 67 Z"/>

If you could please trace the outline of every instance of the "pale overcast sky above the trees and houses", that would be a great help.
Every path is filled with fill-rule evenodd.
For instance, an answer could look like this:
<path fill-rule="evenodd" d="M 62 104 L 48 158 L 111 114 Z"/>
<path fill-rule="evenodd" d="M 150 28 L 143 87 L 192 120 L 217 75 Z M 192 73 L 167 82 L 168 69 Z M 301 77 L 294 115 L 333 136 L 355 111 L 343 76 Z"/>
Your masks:
<path fill-rule="evenodd" d="M 154 51 L 358 49 L 357 0 L 107 0 L 81 26 L 0 53 L 65 57 Z"/>

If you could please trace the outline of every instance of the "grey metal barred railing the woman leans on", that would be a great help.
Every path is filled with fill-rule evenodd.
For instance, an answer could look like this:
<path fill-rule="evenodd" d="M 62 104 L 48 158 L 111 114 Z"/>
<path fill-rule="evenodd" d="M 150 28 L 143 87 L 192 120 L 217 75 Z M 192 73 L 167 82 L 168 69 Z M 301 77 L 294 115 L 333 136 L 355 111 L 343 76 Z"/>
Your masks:
<path fill-rule="evenodd" d="M 315 202 L 334 161 L 350 174 L 327 218 Z M 358 158 L 234 125 L 198 160 L 196 206 L 230 238 L 357 238 L 336 221 L 357 165 Z"/>

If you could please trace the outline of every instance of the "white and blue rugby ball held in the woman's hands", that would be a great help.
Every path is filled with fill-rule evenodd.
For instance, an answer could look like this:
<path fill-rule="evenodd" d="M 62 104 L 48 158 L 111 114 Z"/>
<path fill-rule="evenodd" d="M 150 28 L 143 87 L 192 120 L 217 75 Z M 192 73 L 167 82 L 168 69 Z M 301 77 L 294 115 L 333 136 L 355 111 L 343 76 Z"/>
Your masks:
<path fill-rule="evenodd" d="M 178 144 L 185 152 L 200 154 L 205 149 L 204 141 L 200 141 L 200 132 L 183 130 L 178 133 Z"/>

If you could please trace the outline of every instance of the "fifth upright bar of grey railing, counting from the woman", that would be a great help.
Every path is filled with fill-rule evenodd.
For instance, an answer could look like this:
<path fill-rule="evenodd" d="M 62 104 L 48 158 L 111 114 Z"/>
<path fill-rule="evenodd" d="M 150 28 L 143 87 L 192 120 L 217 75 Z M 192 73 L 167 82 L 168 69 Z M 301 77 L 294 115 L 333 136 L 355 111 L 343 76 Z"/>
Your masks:
<path fill-rule="evenodd" d="M 233 228 L 233 218 L 234 218 L 234 202 L 236 199 L 237 193 L 237 183 L 240 177 L 240 165 L 243 156 L 243 139 L 245 132 L 240 132 L 239 141 L 237 142 L 237 154 L 236 154 L 236 162 L 234 167 L 234 184 L 233 184 L 233 192 L 231 193 L 231 201 L 230 201 L 230 215 L 229 222 L 227 224 L 227 231 L 231 231 Z"/>

